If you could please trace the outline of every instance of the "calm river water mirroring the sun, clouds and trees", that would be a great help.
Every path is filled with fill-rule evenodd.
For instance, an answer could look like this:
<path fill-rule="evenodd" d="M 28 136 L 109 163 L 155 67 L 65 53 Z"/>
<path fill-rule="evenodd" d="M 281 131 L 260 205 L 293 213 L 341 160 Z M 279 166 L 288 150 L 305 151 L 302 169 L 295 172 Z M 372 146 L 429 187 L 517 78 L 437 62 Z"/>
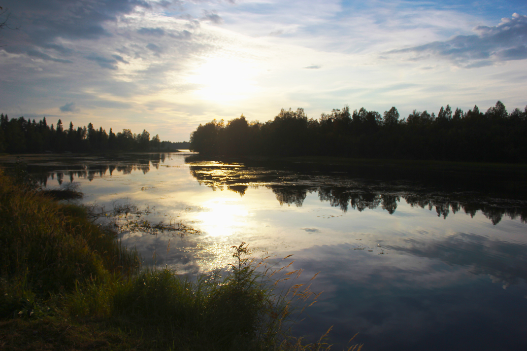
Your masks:
<path fill-rule="evenodd" d="M 334 344 L 359 333 L 366 350 L 527 349 L 521 196 L 445 175 L 180 153 L 24 161 L 47 187 L 78 184 L 85 203 L 133 203 L 154 223 L 200 230 L 124 233 L 147 265 L 207 272 L 231 262 L 229 247 L 242 241 L 257 256 L 294 255 L 301 279 L 320 272 L 312 290 L 324 290 L 299 334 L 317 338 L 333 325 Z"/>

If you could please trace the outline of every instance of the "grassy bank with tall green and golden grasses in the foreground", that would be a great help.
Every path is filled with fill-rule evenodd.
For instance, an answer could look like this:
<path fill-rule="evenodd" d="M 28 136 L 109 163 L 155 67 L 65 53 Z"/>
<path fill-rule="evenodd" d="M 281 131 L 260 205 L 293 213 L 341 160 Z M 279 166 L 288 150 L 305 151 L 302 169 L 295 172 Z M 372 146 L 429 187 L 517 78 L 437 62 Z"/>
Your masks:
<path fill-rule="evenodd" d="M 233 247 L 225 276 L 187 279 L 141 269 L 137 253 L 86 215 L 0 171 L 1 349 L 327 348 L 286 333 L 308 287 L 276 295 L 245 244 Z"/>

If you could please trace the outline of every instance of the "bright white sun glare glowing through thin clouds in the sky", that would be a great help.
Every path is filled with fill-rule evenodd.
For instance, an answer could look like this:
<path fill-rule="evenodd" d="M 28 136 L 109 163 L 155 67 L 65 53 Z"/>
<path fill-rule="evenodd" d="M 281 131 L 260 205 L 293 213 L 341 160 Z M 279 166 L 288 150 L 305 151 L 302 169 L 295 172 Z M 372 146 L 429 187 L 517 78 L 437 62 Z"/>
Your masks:
<path fill-rule="evenodd" d="M 258 69 L 249 62 L 227 57 L 209 58 L 190 77 L 197 84 L 196 94 L 208 101 L 236 101 L 257 91 L 254 80 Z"/>

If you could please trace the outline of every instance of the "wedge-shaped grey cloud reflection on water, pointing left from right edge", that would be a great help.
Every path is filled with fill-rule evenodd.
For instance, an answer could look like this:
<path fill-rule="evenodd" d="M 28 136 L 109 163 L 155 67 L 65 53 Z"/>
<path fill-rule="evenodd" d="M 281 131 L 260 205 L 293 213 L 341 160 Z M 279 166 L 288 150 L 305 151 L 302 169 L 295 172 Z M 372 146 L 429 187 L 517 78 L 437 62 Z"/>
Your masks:
<path fill-rule="evenodd" d="M 407 247 L 385 246 L 412 255 L 440 259 L 449 265 L 470 267 L 474 274 L 488 274 L 506 288 L 527 281 L 527 245 L 508 243 L 476 234 L 457 233 L 441 240 L 407 239 Z"/>

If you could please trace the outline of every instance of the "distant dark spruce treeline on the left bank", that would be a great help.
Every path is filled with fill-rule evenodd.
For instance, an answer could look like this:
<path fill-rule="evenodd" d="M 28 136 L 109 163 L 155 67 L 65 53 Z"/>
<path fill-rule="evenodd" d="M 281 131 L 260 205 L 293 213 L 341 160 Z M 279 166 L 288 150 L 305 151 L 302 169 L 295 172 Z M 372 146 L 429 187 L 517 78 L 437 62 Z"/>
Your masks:
<path fill-rule="evenodd" d="M 106 133 L 102 127 L 95 129 L 91 123 L 87 127 L 74 128 L 70 122 L 69 128 L 64 129 L 60 119 L 54 127 L 47 125 L 45 117 L 36 122 L 24 117 L 0 116 L 0 153 L 175 151 L 177 146 L 188 148 L 189 144 L 161 142 L 159 135 L 150 139 L 146 130 L 133 134 L 130 129 L 123 129 L 115 134 L 111 128 L 110 133 Z"/>

